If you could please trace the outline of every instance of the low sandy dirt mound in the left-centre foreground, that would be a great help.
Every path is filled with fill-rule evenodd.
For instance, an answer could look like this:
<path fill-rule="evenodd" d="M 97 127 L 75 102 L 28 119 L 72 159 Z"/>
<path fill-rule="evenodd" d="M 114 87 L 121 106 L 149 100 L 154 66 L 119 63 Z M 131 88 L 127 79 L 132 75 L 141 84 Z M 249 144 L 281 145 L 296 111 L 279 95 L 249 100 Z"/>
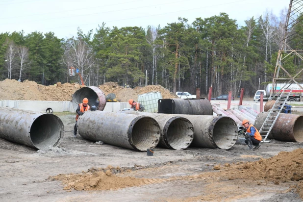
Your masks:
<path fill-rule="evenodd" d="M 66 186 L 64 190 L 70 191 L 74 188 L 77 191 L 85 190 L 117 190 L 126 187 L 140 186 L 145 184 L 160 183 L 162 179 L 146 179 L 135 177 L 117 177 L 115 172 L 121 172 L 124 169 L 119 167 L 107 166 L 105 169 L 91 168 L 86 173 L 81 174 L 60 174 L 49 177 L 51 180 L 62 181 Z"/>

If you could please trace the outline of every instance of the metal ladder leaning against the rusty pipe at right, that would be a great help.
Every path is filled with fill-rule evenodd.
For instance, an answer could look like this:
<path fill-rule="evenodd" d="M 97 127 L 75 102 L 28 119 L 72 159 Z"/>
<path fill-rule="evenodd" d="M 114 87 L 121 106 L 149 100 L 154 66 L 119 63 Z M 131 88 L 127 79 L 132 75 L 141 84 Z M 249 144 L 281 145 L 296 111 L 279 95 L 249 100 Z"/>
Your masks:
<path fill-rule="evenodd" d="M 272 130 L 273 126 L 275 125 L 281 111 L 283 110 L 283 107 L 284 107 L 286 101 L 288 100 L 289 95 L 292 92 L 292 89 L 289 91 L 287 96 L 285 95 L 284 91 L 285 91 L 285 88 L 283 89 L 283 91 L 280 94 L 280 96 L 278 97 L 277 101 L 275 102 L 275 104 L 273 105 L 271 110 L 269 111 L 263 125 L 261 126 L 261 129 L 259 130 L 261 137 L 264 137 L 262 142 L 270 142 L 270 141 L 266 141 L 267 136 L 269 135 L 269 133 Z M 266 135 L 262 135 L 262 133 L 266 133 Z"/>

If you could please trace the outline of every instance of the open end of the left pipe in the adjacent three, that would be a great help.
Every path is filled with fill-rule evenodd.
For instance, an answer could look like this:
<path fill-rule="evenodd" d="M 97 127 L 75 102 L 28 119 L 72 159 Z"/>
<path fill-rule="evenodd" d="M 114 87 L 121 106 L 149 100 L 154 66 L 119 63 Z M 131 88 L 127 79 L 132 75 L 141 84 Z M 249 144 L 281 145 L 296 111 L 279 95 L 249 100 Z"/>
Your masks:
<path fill-rule="evenodd" d="M 138 116 L 133 119 L 127 131 L 131 146 L 138 151 L 147 151 L 160 141 L 160 127 L 151 117 Z"/>

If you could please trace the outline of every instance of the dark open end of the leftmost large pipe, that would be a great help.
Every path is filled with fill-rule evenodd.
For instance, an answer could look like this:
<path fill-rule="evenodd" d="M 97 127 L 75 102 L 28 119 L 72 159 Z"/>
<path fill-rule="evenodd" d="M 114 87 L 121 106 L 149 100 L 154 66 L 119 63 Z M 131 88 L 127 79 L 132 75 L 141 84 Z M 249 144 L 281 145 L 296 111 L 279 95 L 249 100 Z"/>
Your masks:
<path fill-rule="evenodd" d="M 30 126 L 30 140 L 38 150 L 55 147 L 64 136 L 62 121 L 53 114 L 42 114 Z"/>

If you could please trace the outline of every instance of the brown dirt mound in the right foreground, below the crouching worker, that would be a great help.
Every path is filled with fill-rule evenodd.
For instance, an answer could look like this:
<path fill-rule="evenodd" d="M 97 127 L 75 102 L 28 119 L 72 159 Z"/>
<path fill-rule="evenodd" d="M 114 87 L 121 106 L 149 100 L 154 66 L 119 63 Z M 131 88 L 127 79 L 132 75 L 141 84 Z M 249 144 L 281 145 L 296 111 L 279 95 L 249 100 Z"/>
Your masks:
<path fill-rule="evenodd" d="M 261 158 L 255 162 L 240 162 L 235 165 L 216 165 L 214 170 L 219 173 L 202 174 L 202 176 L 226 177 L 233 179 L 267 180 L 274 184 L 298 181 L 297 190 L 303 198 L 303 149 L 291 152 L 281 151 L 268 159 Z M 260 184 L 261 182 L 257 182 Z"/>

